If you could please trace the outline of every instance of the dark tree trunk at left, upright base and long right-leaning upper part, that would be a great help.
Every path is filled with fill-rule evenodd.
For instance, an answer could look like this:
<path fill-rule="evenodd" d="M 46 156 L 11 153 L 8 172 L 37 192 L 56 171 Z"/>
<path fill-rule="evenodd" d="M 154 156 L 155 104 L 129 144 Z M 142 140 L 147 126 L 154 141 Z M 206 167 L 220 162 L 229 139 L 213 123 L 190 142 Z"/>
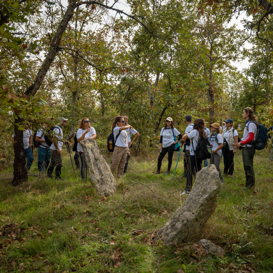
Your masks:
<path fill-rule="evenodd" d="M 25 94 L 27 96 L 27 99 L 29 100 L 31 96 L 34 96 L 35 93 L 40 88 L 44 77 L 46 76 L 46 73 L 48 72 L 48 69 L 51 65 L 51 63 L 54 61 L 54 58 L 58 52 L 58 48 L 61 42 L 61 37 L 66 30 L 67 24 L 69 23 L 69 20 L 73 16 L 73 10 L 77 7 L 78 1 L 77 0 L 71 0 L 69 6 L 67 7 L 66 13 L 63 16 L 63 19 L 61 20 L 60 25 L 58 26 L 58 29 L 54 35 L 54 37 L 51 40 L 50 47 L 48 54 L 46 55 L 46 58 L 44 59 L 41 68 L 39 69 L 37 76 L 34 79 L 33 84 L 27 88 Z M 22 124 L 22 118 L 17 117 L 15 120 L 15 123 Z M 23 147 L 23 131 L 22 133 L 19 133 L 19 130 L 17 129 L 17 126 L 14 126 L 14 133 L 17 134 L 16 136 L 16 144 L 14 144 L 14 164 L 13 164 L 13 185 L 19 185 L 20 183 L 28 180 L 27 171 L 25 169 L 25 157 L 22 160 L 22 156 L 25 155 L 24 147 Z M 15 139 L 15 138 L 14 138 Z M 15 143 L 15 141 L 14 141 Z"/>

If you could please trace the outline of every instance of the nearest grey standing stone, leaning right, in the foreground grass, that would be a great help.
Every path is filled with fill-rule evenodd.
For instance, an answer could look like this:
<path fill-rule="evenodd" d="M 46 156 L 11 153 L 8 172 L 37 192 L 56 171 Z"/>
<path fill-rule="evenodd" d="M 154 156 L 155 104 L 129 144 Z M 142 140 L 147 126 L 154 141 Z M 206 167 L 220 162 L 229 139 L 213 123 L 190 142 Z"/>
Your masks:
<path fill-rule="evenodd" d="M 196 174 L 195 183 L 182 206 L 160 229 L 154 241 L 161 239 L 165 244 L 190 241 L 199 236 L 210 215 L 215 210 L 216 198 L 221 184 L 215 165 L 209 165 Z"/>

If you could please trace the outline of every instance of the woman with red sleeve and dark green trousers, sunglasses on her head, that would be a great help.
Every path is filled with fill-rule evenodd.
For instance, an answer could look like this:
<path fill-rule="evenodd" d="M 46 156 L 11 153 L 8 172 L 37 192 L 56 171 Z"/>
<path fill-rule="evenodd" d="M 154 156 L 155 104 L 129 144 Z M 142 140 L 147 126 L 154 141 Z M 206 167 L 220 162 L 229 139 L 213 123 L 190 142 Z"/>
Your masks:
<path fill-rule="evenodd" d="M 242 158 L 245 170 L 245 188 L 252 188 L 255 186 L 255 174 L 253 168 L 253 158 L 255 154 L 255 147 L 253 145 L 253 140 L 256 138 L 257 121 L 256 115 L 254 115 L 253 110 L 250 107 L 244 108 L 243 119 L 245 120 L 245 129 L 242 140 L 235 144 L 236 148 L 242 147 Z"/>

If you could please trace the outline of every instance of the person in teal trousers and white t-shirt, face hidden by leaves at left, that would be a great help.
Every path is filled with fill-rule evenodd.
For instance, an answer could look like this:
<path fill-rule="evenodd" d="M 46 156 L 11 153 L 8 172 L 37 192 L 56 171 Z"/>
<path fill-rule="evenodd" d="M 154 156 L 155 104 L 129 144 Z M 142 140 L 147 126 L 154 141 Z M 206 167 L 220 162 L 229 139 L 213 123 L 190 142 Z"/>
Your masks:
<path fill-rule="evenodd" d="M 38 147 L 38 170 L 40 172 L 46 172 L 50 162 L 50 150 L 48 144 L 44 140 L 45 128 L 48 128 L 48 124 L 45 123 L 45 126 L 41 128 L 37 134 L 35 141 L 39 142 Z"/>

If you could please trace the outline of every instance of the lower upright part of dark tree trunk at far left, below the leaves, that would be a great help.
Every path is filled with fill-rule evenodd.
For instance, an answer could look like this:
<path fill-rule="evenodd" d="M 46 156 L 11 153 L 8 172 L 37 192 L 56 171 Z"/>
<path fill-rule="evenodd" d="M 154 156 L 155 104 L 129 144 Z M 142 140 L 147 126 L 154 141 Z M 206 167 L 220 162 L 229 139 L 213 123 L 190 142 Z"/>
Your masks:
<path fill-rule="evenodd" d="M 16 122 L 22 123 L 23 119 L 17 117 Z M 14 124 L 14 162 L 13 162 L 13 180 L 12 185 L 17 186 L 20 183 L 28 181 L 28 173 L 26 170 L 26 156 L 23 144 L 23 131 L 18 130 L 18 126 Z"/>

